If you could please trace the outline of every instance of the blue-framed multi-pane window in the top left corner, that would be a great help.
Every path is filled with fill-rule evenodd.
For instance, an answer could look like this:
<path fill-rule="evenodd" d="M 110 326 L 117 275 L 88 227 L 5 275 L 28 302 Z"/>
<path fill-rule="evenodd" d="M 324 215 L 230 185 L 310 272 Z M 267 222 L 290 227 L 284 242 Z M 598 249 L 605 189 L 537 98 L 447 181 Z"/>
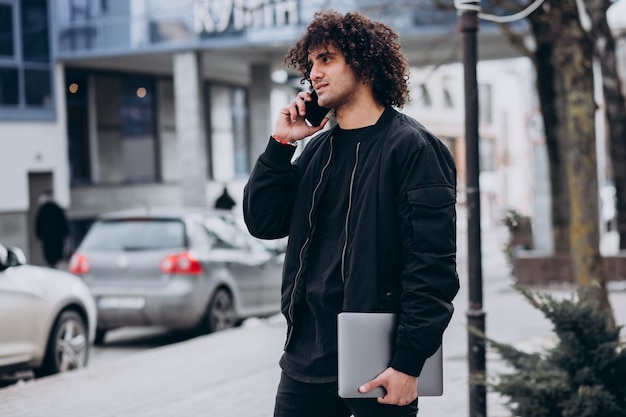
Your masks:
<path fill-rule="evenodd" d="M 5 118 L 37 117 L 41 110 L 52 115 L 49 39 L 46 0 L 0 0 L 0 114 Z"/>

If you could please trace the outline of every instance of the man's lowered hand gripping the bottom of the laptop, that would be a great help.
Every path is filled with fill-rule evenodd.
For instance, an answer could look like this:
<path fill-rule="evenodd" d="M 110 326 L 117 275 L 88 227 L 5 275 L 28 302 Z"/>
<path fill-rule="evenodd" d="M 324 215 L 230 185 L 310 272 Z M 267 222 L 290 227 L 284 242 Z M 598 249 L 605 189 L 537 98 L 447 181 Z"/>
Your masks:
<path fill-rule="evenodd" d="M 359 392 L 366 393 L 376 387 L 383 387 L 387 394 L 378 397 L 381 404 L 404 406 L 417 398 L 417 377 L 387 368 L 383 373 L 359 387 Z"/>

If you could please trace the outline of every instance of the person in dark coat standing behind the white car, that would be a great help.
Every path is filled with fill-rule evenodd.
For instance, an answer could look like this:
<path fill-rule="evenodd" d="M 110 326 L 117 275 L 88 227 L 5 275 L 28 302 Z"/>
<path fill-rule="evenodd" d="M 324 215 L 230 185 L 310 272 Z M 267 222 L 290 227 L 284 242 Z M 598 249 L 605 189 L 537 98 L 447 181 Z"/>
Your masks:
<path fill-rule="evenodd" d="M 65 212 L 46 191 L 40 197 L 40 206 L 35 219 L 35 234 L 41 241 L 46 265 L 54 268 L 63 259 L 65 239 L 69 235 L 69 226 Z"/>

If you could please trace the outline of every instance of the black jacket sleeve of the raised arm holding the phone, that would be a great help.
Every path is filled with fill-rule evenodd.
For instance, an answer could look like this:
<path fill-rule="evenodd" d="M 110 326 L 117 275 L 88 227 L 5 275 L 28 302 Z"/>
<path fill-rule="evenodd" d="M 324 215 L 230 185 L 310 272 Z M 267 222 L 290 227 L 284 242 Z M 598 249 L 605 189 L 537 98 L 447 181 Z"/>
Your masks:
<path fill-rule="evenodd" d="M 260 239 L 287 236 L 295 199 L 294 146 L 269 140 L 256 161 L 243 192 L 243 215 L 248 231 Z"/>

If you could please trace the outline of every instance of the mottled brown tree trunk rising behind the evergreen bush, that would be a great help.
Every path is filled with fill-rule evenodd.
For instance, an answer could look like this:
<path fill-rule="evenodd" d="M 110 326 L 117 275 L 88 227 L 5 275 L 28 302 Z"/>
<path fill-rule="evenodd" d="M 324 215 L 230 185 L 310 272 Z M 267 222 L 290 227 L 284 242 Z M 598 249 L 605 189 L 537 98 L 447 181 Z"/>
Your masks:
<path fill-rule="evenodd" d="M 576 282 L 592 288 L 601 309 L 610 309 L 600 255 L 598 177 L 593 86 L 593 45 L 580 22 L 576 0 L 550 0 L 554 53 L 563 78 L 569 137 L 566 156 L 570 193 L 570 253 Z"/>

